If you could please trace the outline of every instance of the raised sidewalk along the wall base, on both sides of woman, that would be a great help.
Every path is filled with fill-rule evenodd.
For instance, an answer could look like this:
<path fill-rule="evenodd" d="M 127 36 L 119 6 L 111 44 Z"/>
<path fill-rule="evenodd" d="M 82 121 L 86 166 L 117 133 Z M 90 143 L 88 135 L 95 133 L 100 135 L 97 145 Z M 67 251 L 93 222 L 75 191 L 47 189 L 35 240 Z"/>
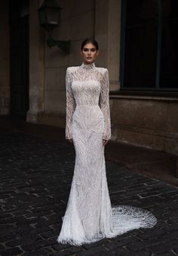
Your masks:
<path fill-rule="evenodd" d="M 57 126 L 26 122 L 16 116 L 0 116 L 0 128 L 11 128 L 52 140 L 65 140 L 65 129 Z M 130 170 L 140 172 L 157 180 L 178 187 L 178 159 L 176 155 L 133 146 L 109 140 L 106 147 L 106 159 Z"/>

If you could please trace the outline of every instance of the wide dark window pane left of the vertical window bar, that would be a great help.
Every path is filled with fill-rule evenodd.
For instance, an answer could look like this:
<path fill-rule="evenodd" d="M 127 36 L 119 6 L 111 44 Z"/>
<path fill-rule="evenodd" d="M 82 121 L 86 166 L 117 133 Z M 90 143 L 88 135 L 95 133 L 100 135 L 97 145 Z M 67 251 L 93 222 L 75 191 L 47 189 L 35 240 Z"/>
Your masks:
<path fill-rule="evenodd" d="M 124 87 L 155 88 L 157 1 L 127 1 L 126 10 Z"/>

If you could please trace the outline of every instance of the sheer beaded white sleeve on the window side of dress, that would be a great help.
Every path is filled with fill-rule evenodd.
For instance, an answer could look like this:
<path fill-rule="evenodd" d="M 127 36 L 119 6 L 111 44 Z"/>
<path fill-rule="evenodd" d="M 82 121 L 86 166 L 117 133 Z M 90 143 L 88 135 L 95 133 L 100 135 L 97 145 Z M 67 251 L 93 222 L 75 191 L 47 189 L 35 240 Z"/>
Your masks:
<path fill-rule="evenodd" d="M 105 124 L 103 139 L 109 140 L 111 137 L 111 119 L 109 109 L 109 72 L 107 69 L 101 80 L 100 108 L 103 112 Z"/>

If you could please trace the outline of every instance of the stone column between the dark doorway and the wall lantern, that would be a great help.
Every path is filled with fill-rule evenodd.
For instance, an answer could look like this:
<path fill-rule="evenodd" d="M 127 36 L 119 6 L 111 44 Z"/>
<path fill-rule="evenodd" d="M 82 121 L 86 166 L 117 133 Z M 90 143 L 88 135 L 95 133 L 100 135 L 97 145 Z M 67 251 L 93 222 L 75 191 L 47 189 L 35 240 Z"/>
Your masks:
<path fill-rule="evenodd" d="M 42 122 L 44 113 L 44 30 L 38 20 L 41 0 L 29 6 L 29 111 L 27 122 Z"/>

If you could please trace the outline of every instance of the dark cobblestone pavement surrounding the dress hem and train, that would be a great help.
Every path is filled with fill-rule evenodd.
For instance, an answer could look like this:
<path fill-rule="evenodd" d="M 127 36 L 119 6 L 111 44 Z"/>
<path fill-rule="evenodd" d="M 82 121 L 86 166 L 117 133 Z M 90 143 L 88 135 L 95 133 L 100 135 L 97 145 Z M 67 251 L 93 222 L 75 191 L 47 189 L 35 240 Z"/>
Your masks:
<path fill-rule="evenodd" d="M 158 224 L 91 245 L 60 245 L 73 147 L 8 128 L 0 128 L 0 146 L 0 255 L 178 255 L 177 187 L 109 162 L 112 205 L 146 208 Z"/>

